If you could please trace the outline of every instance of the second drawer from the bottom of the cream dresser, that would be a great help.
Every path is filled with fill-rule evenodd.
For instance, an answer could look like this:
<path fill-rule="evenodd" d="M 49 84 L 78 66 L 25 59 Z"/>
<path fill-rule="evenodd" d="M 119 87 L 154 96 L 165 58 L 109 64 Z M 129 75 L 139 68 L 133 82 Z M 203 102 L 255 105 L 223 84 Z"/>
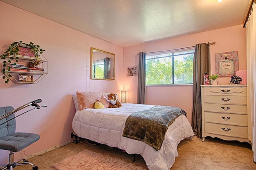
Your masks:
<path fill-rule="evenodd" d="M 247 127 L 247 115 L 204 112 L 204 121 Z"/>

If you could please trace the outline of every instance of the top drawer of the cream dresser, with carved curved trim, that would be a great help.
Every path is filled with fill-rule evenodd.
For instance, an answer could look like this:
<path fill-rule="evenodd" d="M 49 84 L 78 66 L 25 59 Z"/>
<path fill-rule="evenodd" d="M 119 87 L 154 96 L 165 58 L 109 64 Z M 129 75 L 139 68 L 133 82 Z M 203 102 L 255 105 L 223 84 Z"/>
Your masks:
<path fill-rule="evenodd" d="M 247 95 L 246 87 L 204 87 L 206 94 Z"/>

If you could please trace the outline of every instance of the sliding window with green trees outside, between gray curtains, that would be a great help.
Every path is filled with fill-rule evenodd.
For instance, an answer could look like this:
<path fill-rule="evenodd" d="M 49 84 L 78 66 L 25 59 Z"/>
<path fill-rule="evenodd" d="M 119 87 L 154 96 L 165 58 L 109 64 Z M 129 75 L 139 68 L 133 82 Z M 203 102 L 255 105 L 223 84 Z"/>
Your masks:
<path fill-rule="evenodd" d="M 194 47 L 146 53 L 146 85 L 193 83 Z"/>

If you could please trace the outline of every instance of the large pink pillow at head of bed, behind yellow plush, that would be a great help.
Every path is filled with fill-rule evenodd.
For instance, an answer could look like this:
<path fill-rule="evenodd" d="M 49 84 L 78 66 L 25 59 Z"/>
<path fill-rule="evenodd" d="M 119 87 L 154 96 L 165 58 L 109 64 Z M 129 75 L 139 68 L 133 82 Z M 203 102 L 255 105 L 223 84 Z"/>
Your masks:
<path fill-rule="evenodd" d="M 101 93 L 94 91 L 76 91 L 76 97 L 79 103 L 78 109 L 81 111 L 85 108 L 94 108 L 93 105 L 97 99 L 101 98 Z"/>

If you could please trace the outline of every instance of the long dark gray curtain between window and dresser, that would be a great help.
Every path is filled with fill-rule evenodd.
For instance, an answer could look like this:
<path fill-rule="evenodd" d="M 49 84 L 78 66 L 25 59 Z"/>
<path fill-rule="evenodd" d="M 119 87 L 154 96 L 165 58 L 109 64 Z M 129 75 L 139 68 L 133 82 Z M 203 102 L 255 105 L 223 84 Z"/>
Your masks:
<path fill-rule="evenodd" d="M 201 85 L 204 73 L 210 73 L 210 46 L 206 43 L 196 44 L 193 65 L 193 112 L 192 128 L 198 138 L 202 138 Z"/>

